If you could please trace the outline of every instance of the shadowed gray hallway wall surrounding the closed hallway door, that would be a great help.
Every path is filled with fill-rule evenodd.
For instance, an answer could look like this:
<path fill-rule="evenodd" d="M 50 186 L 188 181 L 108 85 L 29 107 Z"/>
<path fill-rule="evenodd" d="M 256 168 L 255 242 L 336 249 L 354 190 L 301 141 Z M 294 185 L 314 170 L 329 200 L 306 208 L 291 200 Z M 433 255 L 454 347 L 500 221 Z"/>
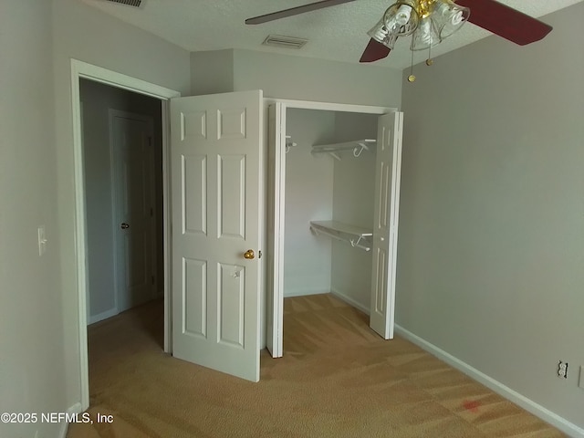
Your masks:
<path fill-rule="evenodd" d="M 88 230 L 88 321 L 94 322 L 93 319 L 99 315 L 115 311 L 110 109 L 149 116 L 154 122 L 158 262 L 156 277 L 157 290 L 163 291 L 162 103 L 159 99 L 115 89 L 87 79 L 80 81 L 80 98 L 83 102 L 83 159 Z"/>

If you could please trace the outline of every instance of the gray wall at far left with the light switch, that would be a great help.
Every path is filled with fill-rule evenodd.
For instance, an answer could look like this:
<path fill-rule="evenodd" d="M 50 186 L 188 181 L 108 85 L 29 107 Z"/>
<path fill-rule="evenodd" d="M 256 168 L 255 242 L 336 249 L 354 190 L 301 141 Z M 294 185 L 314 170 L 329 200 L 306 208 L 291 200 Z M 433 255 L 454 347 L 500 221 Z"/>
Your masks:
<path fill-rule="evenodd" d="M 0 412 L 64 412 L 51 6 L 0 2 Z M 38 255 L 36 228 L 47 230 Z M 40 415 L 40 413 L 38 413 Z M 60 424 L 0 423 L 5 437 Z"/>

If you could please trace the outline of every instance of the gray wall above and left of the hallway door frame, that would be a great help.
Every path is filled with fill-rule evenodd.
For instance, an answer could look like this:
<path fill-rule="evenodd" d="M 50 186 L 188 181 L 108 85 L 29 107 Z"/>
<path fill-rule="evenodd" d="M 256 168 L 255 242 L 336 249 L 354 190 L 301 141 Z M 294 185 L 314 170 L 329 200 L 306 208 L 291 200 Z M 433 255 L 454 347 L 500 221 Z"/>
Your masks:
<path fill-rule="evenodd" d="M 23 25 L 28 28 L 29 25 Z M 80 401 L 78 287 L 75 259 L 75 188 L 71 124 L 70 58 L 141 78 L 188 95 L 190 54 L 161 38 L 76 0 L 53 0 L 53 67 L 57 135 L 57 189 L 47 203 L 58 207 L 64 313 L 65 396 Z M 26 51 L 24 51 L 26 52 Z M 62 392 L 59 392 L 62 393 Z"/>

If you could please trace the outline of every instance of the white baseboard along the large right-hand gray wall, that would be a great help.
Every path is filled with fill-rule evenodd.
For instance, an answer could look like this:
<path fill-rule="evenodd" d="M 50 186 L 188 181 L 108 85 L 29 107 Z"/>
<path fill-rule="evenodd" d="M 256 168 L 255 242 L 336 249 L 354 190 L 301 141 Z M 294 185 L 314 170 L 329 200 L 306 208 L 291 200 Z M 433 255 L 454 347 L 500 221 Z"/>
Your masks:
<path fill-rule="evenodd" d="M 537 404 L 535 401 L 528 399 L 519 392 L 513 391 L 511 388 L 504 385 L 500 381 L 495 381 L 495 379 L 487 376 L 484 372 L 476 370 L 462 360 L 455 358 L 452 354 L 449 354 L 443 349 L 439 349 L 435 345 L 431 344 L 427 340 L 414 335 L 411 331 L 408 331 L 396 324 L 395 332 L 402 338 L 408 339 L 418 347 L 428 351 L 433 356 L 453 366 L 456 370 L 463 371 L 467 376 L 484 384 L 487 388 L 495 391 L 499 395 L 505 397 L 507 400 L 513 401 L 527 412 L 533 413 L 544 422 L 548 422 L 552 426 L 558 428 L 563 433 L 567 433 L 573 438 L 584 438 L 584 429 L 580 428 L 576 424 L 568 422 L 568 420 L 560 417 L 557 413 L 551 412 L 540 404 Z"/>

